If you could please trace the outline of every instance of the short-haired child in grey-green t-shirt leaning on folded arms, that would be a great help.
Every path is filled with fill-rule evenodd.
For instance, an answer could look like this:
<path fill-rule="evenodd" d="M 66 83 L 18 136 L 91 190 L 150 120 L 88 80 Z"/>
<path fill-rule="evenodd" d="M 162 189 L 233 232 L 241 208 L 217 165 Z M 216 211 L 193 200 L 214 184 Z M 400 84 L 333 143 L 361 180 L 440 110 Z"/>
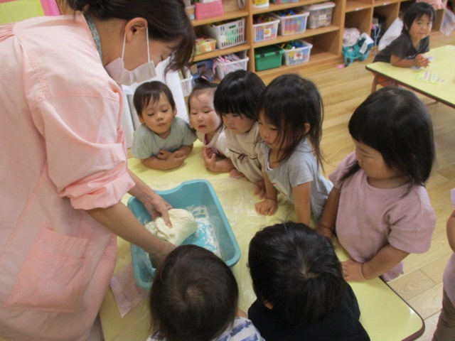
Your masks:
<path fill-rule="evenodd" d="M 152 169 L 181 166 L 193 150 L 196 134 L 176 117 L 176 103 L 168 86 L 159 81 L 143 83 L 134 92 L 133 103 L 141 122 L 134 131 L 134 156 Z"/>

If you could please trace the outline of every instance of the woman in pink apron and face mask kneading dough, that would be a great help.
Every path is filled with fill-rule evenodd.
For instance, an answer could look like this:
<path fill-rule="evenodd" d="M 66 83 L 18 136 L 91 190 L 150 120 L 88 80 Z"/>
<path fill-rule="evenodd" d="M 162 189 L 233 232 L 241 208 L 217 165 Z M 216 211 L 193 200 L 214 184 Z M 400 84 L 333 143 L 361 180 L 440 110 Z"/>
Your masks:
<path fill-rule="evenodd" d="M 120 202 L 170 206 L 128 171 L 120 85 L 191 58 L 181 0 L 67 0 L 69 16 L 0 26 L 0 338 L 86 341 L 117 236 L 173 248 Z"/>

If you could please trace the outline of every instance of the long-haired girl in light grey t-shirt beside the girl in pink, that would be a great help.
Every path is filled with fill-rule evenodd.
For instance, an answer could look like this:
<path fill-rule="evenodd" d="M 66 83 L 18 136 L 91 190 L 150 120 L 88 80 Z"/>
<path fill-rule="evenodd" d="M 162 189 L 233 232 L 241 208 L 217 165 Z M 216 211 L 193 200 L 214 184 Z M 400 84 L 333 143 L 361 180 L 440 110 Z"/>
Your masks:
<path fill-rule="evenodd" d="M 264 141 L 266 197 L 256 210 L 272 215 L 277 191 L 296 211 L 296 222 L 319 220 L 332 183 L 321 175 L 323 104 L 316 85 L 299 75 L 275 78 L 259 99 L 259 134 Z"/>

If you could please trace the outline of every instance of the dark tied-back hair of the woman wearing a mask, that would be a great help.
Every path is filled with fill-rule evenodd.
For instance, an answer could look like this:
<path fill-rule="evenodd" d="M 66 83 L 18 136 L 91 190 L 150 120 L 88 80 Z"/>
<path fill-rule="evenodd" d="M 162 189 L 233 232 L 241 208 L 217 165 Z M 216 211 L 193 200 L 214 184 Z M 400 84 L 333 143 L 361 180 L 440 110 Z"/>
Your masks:
<path fill-rule="evenodd" d="M 145 18 L 151 39 L 180 40 L 166 71 L 178 70 L 191 60 L 196 34 L 182 0 L 66 0 L 66 3 L 74 11 L 100 19 Z"/>

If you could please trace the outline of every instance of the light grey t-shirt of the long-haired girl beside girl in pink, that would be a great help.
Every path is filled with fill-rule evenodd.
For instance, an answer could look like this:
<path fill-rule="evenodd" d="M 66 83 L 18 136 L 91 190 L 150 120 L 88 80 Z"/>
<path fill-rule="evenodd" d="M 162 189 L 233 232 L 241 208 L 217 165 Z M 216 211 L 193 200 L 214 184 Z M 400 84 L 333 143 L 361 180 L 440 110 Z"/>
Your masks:
<path fill-rule="evenodd" d="M 284 197 L 294 204 L 292 188 L 302 183 L 311 183 L 310 207 L 311 212 L 316 220 L 321 217 L 328 193 L 330 193 L 333 184 L 330 180 L 324 178 L 319 172 L 316 158 L 313 155 L 311 147 L 302 140 L 296 146 L 291 156 L 282 161 L 276 168 L 269 168 L 269 147 L 262 144 L 264 153 L 264 165 L 270 182 L 279 190 Z"/>

